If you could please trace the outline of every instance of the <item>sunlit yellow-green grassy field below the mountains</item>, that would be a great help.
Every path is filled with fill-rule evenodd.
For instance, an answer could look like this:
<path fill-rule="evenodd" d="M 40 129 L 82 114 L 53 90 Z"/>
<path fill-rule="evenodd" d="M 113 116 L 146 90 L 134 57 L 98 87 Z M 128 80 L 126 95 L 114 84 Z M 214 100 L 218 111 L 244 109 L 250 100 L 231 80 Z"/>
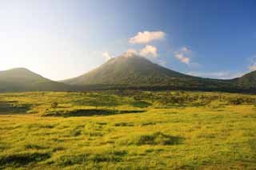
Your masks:
<path fill-rule="evenodd" d="M 255 169 L 256 96 L 0 94 L 0 169 Z"/>

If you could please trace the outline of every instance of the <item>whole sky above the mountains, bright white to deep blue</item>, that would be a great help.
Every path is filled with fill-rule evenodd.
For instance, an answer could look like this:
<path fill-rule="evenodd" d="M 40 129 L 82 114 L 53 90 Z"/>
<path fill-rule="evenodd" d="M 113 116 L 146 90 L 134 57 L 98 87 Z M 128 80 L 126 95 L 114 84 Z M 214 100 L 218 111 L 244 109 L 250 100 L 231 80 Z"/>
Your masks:
<path fill-rule="evenodd" d="M 182 73 L 237 77 L 256 69 L 255 8 L 254 0 L 1 1 L 0 69 L 62 80 L 128 50 Z"/>

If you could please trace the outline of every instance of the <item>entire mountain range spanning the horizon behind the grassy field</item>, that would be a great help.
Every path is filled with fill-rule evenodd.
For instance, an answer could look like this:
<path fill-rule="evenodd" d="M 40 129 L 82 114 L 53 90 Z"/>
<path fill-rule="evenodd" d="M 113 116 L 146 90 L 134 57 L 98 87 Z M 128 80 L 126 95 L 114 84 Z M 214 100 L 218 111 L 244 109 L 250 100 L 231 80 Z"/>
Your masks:
<path fill-rule="evenodd" d="M 0 92 L 83 91 L 96 89 L 181 89 L 256 93 L 256 71 L 232 80 L 178 73 L 145 57 L 123 54 L 79 77 L 50 81 L 28 69 L 0 72 Z"/>

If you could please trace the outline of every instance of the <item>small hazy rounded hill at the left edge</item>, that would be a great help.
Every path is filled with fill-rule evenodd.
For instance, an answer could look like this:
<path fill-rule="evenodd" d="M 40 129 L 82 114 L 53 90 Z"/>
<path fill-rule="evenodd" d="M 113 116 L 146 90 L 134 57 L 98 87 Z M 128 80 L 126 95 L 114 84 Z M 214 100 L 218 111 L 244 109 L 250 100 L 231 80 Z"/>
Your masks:
<path fill-rule="evenodd" d="M 51 81 L 29 69 L 16 68 L 0 71 L 0 92 L 66 91 L 69 89 L 69 85 Z"/>

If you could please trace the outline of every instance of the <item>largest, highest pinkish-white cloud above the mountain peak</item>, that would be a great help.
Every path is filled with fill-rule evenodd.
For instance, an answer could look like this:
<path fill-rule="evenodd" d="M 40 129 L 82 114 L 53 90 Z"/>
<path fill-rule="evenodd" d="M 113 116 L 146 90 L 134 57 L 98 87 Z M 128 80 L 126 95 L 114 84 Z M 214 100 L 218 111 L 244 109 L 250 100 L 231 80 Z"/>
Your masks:
<path fill-rule="evenodd" d="M 165 33 L 162 31 L 144 31 L 138 32 L 134 38 L 130 38 L 129 42 L 131 44 L 146 44 L 154 40 L 161 40 L 165 37 Z"/>

